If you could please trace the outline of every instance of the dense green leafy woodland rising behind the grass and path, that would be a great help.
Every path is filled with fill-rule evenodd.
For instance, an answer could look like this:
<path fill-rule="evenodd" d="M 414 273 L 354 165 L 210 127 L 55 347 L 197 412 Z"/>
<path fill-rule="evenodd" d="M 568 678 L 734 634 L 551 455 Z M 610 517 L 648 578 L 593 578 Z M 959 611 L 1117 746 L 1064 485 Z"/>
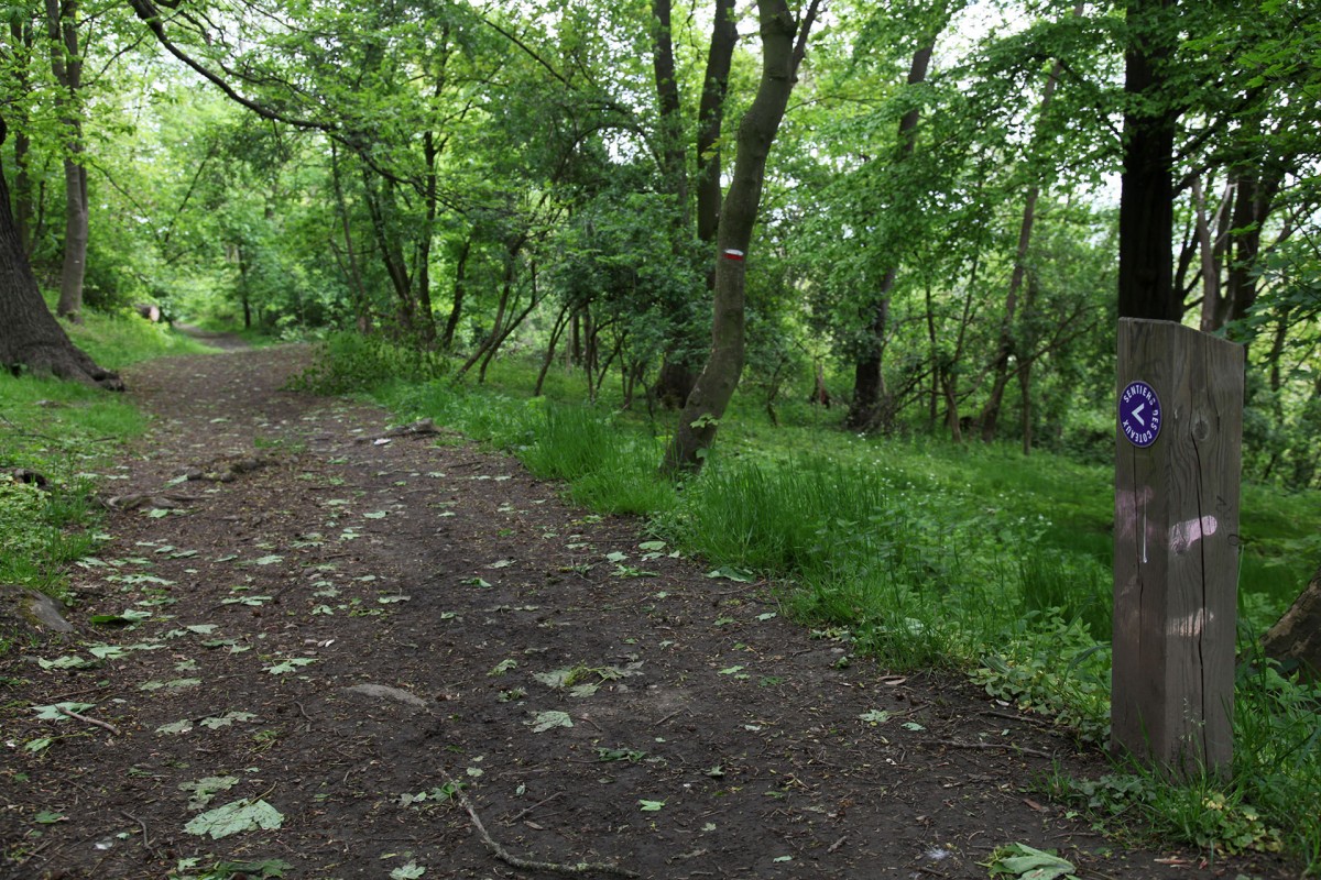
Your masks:
<path fill-rule="evenodd" d="M 7 247 L 71 319 L 560 358 L 687 401 L 675 467 L 740 375 L 1103 455 L 1116 317 L 1181 319 L 1250 347 L 1250 475 L 1316 486 L 1309 5 L 16 4 Z"/>

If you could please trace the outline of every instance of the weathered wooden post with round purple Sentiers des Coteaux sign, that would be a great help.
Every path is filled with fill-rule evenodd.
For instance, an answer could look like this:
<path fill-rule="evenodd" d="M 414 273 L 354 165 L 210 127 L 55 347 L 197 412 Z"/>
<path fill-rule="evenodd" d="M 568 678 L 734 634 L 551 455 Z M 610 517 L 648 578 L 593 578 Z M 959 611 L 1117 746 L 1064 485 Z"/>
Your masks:
<path fill-rule="evenodd" d="M 1243 348 L 1122 318 L 1118 389 L 1111 748 L 1227 773 Z"/>

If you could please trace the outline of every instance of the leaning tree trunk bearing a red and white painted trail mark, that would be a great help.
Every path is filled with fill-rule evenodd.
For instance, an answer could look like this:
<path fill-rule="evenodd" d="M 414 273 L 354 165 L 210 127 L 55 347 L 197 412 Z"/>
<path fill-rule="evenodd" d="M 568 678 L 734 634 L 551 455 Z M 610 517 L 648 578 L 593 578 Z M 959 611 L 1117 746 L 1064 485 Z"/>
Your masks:
<path fill-rule="evenodd" d="M 818 0 L 812 0 L 799 29 L 785 0 L 757 3 L 762 46 L 761 83 L 752 107 L 738 125 L 733 181 L 720 212 L 711 355 L 679 414 L 679 426 L 662 464 L 666 474 L 691 472 L 701 467 L 742 375 L 744 255 L 757 222 L 766 157 L 794 90 L 798 62 L 806 49 L 816 9 Z"/>

